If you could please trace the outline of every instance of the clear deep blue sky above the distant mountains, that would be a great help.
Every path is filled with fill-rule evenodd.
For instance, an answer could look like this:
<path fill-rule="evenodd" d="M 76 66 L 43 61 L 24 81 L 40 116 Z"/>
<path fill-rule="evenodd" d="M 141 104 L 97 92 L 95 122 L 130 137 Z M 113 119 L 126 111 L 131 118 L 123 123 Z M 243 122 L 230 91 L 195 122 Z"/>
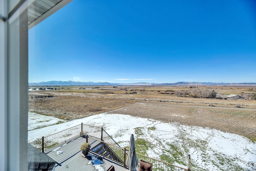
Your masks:
<path fill-rule="evenodd" d="M 73 0 L 29 30 L 29 82 L 256 82 L 255 0 Z"/>

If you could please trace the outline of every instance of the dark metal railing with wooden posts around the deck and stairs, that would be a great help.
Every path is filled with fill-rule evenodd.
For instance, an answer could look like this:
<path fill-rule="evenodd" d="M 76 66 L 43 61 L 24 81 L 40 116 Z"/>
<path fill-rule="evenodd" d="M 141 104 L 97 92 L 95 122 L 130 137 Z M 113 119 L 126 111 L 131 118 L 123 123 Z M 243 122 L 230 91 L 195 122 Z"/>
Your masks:
<path fill-rule="evenodd" d="M 120 163 L 124 165 L 124 167 L 126 167 L 128 150 L 126 150 L 126 148 L 120 147 L 118 143 L 116 143 L 116 141 L 114 141 L 114 139 L 112 139 L 112 137 L 108 135 L 108 133 L 106 133 L 106 131 L 102 127 L 96 127 L 81 123 L 58 133 L 42 137 L 42 139 L 37 139 L 33 142 L 30 142 L 30 144 L 44 153 L 44 150 L 55 147 L 56 145 L 65 141 L 67 142 L 69 139 L 80 135 L 81 131 L 83 131 L 83 134 L 86 134 L 87 142 L 88 139 L 92 139 L 96 145 L 102 145 L 103 149 L 108 149 L 105 151 L 98 151 L 96 149 L 97 147 L 95 146 L 95 148 L 92 148 L 91 151 L 97 153 L 98 155 L 102 155 L 103 157 L 109 158 L 112 161 L 116 161 L 117 163 Z M 139 153 L 137 153 L 137 157 L 139 161 L 141 159 L 152 163 L 153 171 L 190 171 L 189 168 L 186 169 L 183 167 L 179 167 Z"/>

